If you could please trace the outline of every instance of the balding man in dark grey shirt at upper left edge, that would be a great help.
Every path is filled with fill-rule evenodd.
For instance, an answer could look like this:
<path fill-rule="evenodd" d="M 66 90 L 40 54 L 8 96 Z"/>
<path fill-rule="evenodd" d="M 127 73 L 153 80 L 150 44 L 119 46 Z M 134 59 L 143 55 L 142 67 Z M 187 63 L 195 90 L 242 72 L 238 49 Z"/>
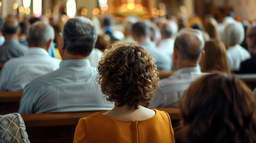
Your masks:
<path fill-rule="evenodd" d="M 15 19 L 4 22 L 2 34 L 4 44 L 0 46 L 0 62 L 6 62 L 13 57 L 20 57 L 28 50 L 28 47 L 19 42 L 20 25 Z"/>

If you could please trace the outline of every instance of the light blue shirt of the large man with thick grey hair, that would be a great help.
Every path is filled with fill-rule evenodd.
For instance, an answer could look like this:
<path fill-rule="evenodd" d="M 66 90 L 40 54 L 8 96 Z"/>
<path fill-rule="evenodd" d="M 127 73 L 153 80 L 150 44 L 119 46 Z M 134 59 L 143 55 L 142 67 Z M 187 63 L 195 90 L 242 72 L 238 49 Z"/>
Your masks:
<path fill-rule="evenodd" d="M 19 113 L 111 110 L 97 86 L 97 70 L 88 59 L 63 60 L 52 73 L 34 78 L 24 89 Z"/>

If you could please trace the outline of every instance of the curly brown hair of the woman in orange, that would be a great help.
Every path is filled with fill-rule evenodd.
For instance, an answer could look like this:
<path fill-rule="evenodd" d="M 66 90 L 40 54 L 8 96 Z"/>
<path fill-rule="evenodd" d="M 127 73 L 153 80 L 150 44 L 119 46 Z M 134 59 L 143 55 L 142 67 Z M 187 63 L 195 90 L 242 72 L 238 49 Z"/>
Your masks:
<path fill-rule="evenodd" d="M 137 43 L 111 44 L 101 57 L 98 83 L 108 101 L 128 109 L 145 106 L 159 87 L 155 59 Z"/>

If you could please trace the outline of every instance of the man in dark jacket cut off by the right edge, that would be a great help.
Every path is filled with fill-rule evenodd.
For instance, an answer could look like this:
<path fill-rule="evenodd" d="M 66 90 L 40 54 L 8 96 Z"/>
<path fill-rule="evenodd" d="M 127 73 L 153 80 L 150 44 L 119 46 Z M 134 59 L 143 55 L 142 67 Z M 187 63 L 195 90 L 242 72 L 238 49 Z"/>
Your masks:
<path fill-rule="evenodd" d="M 240 64 L 240 70 L 237 73 L 256 73 L 256 26 L 247 29 L 246 42 L 253 54 L 250 59 Z"/>

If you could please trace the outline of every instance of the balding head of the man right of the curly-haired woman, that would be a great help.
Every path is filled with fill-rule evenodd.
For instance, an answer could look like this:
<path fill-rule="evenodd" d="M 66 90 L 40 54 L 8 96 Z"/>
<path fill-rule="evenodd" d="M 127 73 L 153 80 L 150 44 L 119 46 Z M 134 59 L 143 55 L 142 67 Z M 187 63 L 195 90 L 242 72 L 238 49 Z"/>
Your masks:
<path fill-rule="evenodd" d="M 202 33 L 195 29 L 182 29 L 176 37 L 174 47 L 180 53 L 182 59 L 198 61 L 204 49 Z"/>

